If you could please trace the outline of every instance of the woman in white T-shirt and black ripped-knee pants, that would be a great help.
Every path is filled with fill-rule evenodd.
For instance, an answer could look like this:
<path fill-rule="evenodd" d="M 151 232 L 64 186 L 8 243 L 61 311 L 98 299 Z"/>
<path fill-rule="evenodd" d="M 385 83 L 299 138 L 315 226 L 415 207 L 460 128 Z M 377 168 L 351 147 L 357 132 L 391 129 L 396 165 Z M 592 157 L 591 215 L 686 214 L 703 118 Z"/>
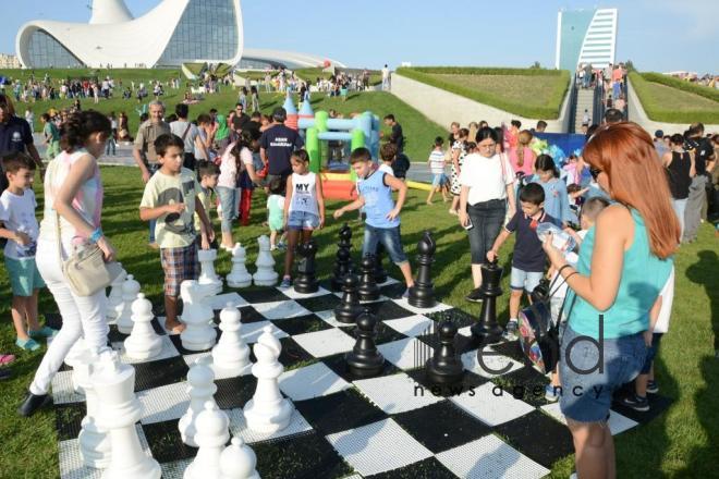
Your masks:
<path fill-rule="evenodd" d="M 499 136 L 492 128 L 477 132 L 477 151 L 464 158 L 460 174 L 460 223 L 470 235 L 474 290 L 468 302 L 483 300 L 482 265 L 497 240 L 507 214 L 514 214 L 514 172 L 503 155 L 497 152 Z"/>

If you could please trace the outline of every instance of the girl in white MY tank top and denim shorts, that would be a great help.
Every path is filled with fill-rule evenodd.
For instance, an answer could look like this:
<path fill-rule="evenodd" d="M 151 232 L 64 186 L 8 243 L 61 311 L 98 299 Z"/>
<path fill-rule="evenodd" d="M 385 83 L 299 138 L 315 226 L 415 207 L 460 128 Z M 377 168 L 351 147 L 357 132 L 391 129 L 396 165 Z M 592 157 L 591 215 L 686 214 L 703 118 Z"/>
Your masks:
<path fill-rule="evenodd" d="M 284 277 L 280 287 L 292 286 L 292 262 L 300 233 L 302 243 L 325 225 L 325 197 L 322 182 L 309 171 L 309 155 L 301 149 L 292 153 L 292 175 L 288 177 L 283 222 L 288 230 L 288 250 L 284 254 Z"/>

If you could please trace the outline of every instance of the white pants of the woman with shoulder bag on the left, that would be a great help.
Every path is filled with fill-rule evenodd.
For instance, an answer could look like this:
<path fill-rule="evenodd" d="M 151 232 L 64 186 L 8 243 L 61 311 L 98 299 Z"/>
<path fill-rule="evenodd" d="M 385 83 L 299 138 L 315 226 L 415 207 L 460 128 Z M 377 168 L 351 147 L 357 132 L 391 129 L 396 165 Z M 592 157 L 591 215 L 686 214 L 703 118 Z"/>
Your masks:
<path fill-rule="evenodd" d="M 64 245 L 63 256 L 66 257 L 70 250 L 71 247 Z M 29 388 L 33 394 L 39 395 L 47 394 L 52 377 L 81 336 L 85 339 L 87 347 L 97 353 L 107 345 L 110 329 L 105 318 L 107 309 L 105 290 L 86 297 L 73 294 L 62 273 L 58 244 L 54 241 L 38 242 L 35 261 L 62 316 L 62 328 L 45 353 Z"/>

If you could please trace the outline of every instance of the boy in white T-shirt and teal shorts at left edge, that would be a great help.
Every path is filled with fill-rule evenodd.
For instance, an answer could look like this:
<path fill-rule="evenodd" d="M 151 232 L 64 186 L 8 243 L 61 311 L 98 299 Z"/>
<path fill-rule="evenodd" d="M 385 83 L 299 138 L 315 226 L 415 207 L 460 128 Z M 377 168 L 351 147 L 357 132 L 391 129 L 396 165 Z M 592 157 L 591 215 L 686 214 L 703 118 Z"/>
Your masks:
<path fill-rule="evenodd" d="M 35 193 L 31 189 L 35 162 L 24 153 L 10 153 L 3 159 L 8 188 L 0 195 L 0 237 L 7 238 L 5 267 L 12 287 L 12 321 L 21 349 L 40 347 L 36 337 L 53 336 L 57 331 L 37 322 L 37 295 L 45 282 L 35 265 L 39 224 L 35 219 Z M 25 327 L 27 326 L 27 330 Z"/>

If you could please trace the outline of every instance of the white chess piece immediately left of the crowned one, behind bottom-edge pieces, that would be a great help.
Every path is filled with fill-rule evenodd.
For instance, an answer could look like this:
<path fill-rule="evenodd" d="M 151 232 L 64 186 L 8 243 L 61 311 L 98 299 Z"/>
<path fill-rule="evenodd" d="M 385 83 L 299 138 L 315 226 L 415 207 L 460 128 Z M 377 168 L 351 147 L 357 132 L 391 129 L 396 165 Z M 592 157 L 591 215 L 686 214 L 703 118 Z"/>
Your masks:
<path fill-rule="evenodd" d="M 205 403 L 215 401 L 214 394 L 217 392 L 211 364 L 211 357 L 203 356 L 195 359 L 195 363 L 193 363 L 187 372 L 190 407 L 187 407 L 187 412 L 180 418 L 178 429 L 180 429 L 182 442 L 193 447 L 197 447 L 197 442 L 195 441 L 197 416 L 205 408 Z"/>

